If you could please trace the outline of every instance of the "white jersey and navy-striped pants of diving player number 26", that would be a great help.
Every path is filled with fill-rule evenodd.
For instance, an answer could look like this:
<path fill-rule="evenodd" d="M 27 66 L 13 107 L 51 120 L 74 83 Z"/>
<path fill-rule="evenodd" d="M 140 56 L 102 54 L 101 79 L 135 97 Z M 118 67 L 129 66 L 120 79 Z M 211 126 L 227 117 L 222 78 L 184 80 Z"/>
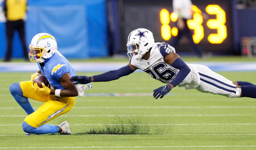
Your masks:
<path fill-rule="evenodd" d="M 130 63 L 147 72 L 152 78 L 163 83 L 169 83 L 179 73 L 179 69 L 164 62 L 164 56 L 175 49 L 167 43 L 155 43 L 151 49 L 148 60 L 135 59 Z M 198 64 L 187 64 L 190 68 L 189 74 L 178 85 L 188 89 L 196 89 L 200 92 L 224 95 L 226 97 L 240 97 L 241 88 L 237 88 L 232 81 L 213 72 L 206 66 Z"/>

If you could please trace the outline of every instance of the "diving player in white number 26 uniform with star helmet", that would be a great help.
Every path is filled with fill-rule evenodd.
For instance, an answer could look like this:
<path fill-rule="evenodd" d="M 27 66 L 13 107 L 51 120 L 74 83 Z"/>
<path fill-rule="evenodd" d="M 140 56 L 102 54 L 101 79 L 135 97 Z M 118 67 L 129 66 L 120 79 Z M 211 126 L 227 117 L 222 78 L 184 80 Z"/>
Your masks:
<path fill-rule="evenodd" d="M 256 86 L 249 82 L 232 82 L 213 72 L 208 67 L 199 64 L 186 64 L 175 53 L 175 48 L 167 43 L 155 43 L 153 34 L 147 29 L 135 29 L 127 41 L 127 54 L 130 57 L 128 65 L 117 70 L 108 71 L 94 76 L 73 76 L 74 84 L 90 82 L 106 82 L 119 79 L 122 76 L 141 69 L 167 85 L 154 91 L 154 98 L 163 98 L 176 86 L 196 89 L 205 93 L 233 97 L 256 98 Z"/>

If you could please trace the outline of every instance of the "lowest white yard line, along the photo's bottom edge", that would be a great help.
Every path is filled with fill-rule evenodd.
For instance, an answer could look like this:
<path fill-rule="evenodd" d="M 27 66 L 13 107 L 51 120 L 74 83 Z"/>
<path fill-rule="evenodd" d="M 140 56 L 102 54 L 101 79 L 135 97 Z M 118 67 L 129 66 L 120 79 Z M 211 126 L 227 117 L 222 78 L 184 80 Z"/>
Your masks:
<path fill-rule="evenodd" d="M 196 148 L 196 147 L 256 147 L 256 145 L 198 145 L 198 146 L 81 146 L 81 147 L 0 147 L 8 148 Z"/>

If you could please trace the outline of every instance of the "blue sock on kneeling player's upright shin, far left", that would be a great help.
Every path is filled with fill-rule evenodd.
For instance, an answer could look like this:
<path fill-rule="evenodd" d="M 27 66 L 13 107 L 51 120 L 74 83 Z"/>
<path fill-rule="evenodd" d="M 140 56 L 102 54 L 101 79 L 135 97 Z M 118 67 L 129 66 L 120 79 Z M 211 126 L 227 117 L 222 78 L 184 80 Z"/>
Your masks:
<path fill-rule="evenodd" d="M 19 83 L 11 84 L 9 89 L 14 99 L 26 111 L 28 115 L 35 111 L 31 106 L 28 98 L 23 96 L 23 92 Z"/>

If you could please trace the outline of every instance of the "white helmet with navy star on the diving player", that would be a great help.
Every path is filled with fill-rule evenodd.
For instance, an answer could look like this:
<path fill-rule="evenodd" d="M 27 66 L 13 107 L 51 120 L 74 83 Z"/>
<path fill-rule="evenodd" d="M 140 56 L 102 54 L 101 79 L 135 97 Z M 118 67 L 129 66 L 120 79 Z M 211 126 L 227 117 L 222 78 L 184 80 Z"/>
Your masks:
<path fill-rule="evenodd" d="M 153 33 L 148 29 L 138 28 L 133 30 L 127 40 L 127 54 L 131 60 L 141 59 L 155 43 Z"/>

